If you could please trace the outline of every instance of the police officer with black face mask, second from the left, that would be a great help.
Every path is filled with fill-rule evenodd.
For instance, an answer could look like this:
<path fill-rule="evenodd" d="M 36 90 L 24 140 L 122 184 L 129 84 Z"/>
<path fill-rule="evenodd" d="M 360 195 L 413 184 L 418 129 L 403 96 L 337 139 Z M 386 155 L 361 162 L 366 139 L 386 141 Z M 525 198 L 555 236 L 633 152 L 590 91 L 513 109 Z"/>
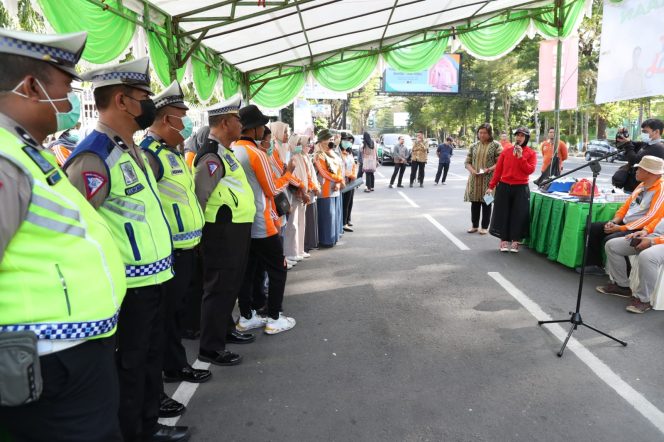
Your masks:
<path fill-rule="evenodd" d="M 149 60 L 85 74 L 92 82 L 99 123 L 65 163 L 72 184 L 106 220 L 120 249 L 127 295 L 120 309 L 117 368 L 120 427 L 125 441 L 185 440 L 186 427 L 157 422 L 162 390 L 162 283 L 173 277 L 171 231 L 155 174 L 134 132 L 155 119 Z"/>

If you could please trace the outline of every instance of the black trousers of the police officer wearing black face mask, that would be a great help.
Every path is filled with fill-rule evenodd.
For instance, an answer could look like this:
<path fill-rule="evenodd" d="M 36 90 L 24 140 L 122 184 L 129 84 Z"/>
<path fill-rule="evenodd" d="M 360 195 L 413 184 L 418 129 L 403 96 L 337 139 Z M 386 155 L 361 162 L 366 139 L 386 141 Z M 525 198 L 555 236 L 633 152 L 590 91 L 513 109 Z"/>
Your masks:
<path fill-rule="evenodd" d="M 124 440 L 155 431 L 162 392 L 163 286 L 127 289 L 118 321 L 116 352 L 120 379 L 120 428 Z"/>

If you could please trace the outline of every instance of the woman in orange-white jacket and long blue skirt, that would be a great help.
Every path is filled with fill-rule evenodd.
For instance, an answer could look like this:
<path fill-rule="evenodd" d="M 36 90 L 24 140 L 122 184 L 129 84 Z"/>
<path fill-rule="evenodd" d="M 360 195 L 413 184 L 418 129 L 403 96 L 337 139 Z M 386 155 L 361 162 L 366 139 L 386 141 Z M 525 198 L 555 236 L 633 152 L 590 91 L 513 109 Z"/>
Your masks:
<path fill-rule="evenodd" d="M 332 134 L 327 129 L 318 133 L 314 165 L 318 172 L 321 193 L 318 197 L 318 241 L 323 247 L 333 247 L 339 240 L 338 199 L 345 186 L 341 159 L 334 153 Z"/>

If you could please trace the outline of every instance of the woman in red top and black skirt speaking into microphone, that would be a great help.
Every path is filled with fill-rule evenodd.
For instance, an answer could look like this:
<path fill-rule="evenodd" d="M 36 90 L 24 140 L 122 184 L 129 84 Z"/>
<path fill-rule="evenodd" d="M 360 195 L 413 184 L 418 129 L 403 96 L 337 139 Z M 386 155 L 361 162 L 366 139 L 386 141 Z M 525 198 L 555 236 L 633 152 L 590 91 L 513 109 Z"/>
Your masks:
<path fill-rule="evenodd" d="M 516 253 L 519 241 L 528 236 L 530 227 L 528 177 L 535 171 L 537 154 L 528 147 L 528 128 L 520 127 L 514 135 L 514 146 L 500 154 L 486 193 L 492 195 L 495 189 L 490 232 L 500 238 L 501 252 Z"/>

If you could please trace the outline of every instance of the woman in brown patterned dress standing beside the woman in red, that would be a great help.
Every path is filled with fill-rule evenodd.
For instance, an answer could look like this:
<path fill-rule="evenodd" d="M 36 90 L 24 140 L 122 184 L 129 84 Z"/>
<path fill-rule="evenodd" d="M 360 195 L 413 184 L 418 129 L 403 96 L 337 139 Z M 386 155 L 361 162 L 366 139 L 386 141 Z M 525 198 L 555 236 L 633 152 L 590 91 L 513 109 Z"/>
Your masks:
<path fill-rule="evenodd" d="M 491 221 L 491 206 L 484 202 L 484 194 L 493 177 L 502 147 L 493 140 L 489 123 L 484 123 L 477 129 L 477 138 L 478 141 L 470 146 L 466 157 L 466 170 L 470 176 L 463 200 L 470 202 L 472 226 L 468 229 L 468 233 L 475 233 L 479 230 L 481 235 L 485 235 L 489 233 L 487 229 L 489 221 Z M 481 228 L 479 228 L 480 212 L 482 214 Z"/>

